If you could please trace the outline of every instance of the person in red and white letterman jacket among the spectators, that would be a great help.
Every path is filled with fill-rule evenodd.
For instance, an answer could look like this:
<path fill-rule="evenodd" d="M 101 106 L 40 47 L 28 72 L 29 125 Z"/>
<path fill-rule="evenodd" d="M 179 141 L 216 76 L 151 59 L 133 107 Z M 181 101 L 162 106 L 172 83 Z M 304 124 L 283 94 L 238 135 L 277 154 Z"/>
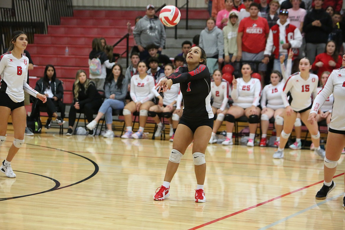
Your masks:
<path fill-rule="evenodd" d="M 278 70 L 279 72 L 281 72 L 279 57 L 282 55 L 285 56 L 286 65 L 289 49 L 302 46 L 302 34 L 297 27 L 290 24 L 288 16 L 289 14 L 286 9 L 281 9 L 279 11 L 279 20 L 277 24 L 269 30 L 264 53 L 265 58 L 263 62 L 266 64 L 269 61 L 271 53 L 274 54 L 273 70 Z"/>

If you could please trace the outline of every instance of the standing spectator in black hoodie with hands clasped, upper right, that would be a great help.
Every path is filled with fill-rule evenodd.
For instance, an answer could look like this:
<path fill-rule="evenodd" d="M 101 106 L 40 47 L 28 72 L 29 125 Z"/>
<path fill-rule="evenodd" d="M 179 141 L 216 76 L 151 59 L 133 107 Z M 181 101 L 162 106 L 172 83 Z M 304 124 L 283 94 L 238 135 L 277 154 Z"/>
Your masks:
<path fill-rule="evenodd" d="M 314 62 L 315 56 L 325 50 L 329 33 L 332 32 L 332 18 L 322 9 L 323 0 L 315 0 L 315 8 L 304 18 L 306 55 Z"/>

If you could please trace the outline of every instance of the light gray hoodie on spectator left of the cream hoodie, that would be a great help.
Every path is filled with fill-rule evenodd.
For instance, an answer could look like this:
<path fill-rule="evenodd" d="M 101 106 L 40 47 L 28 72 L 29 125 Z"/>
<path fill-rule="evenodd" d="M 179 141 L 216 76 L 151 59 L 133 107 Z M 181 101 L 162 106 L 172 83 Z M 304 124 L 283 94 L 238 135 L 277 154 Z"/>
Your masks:
<path fill-rule="evenodd" d="M 208 58 L 218 54 L 218 58 L 223 58 L 224 38 L 223 31 L 215 26 L 212 30 L 206 27 L 200 32 L 199 46 L 206 52 Z"/>

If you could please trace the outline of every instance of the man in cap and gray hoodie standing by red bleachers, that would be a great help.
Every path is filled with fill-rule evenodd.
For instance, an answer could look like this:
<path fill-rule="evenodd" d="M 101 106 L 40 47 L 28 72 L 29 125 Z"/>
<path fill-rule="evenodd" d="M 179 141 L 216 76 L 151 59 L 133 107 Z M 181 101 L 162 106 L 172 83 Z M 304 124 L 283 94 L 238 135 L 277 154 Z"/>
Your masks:
<path fill-rule="evenodd" d="M 159 52 L 165 45 L 165 29 L 155 13 L 155 7 L 151 4 L 147 5 L 146 15 L 137 22 L 133 31 L 135 42 L 140 51 L 140 60 L 149 57 L 148 50 L 145 49 L 149 44 L 155 44 Z"/>

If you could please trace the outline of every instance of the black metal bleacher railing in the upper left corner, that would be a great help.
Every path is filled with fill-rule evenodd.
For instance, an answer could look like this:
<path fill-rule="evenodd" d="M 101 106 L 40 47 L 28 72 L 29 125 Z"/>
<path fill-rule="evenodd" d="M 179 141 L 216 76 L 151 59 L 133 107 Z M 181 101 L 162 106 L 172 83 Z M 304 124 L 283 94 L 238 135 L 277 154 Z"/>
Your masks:
<path fill-rule="evenodd" d="M 33 43 L 33 34 L 47 33 L 60 17 L 72 17 L 72 0 L 13 0 L 12 8 L 0 8 L 0 51 L 9 46 L 13 31 L 22 30 Z"/>

